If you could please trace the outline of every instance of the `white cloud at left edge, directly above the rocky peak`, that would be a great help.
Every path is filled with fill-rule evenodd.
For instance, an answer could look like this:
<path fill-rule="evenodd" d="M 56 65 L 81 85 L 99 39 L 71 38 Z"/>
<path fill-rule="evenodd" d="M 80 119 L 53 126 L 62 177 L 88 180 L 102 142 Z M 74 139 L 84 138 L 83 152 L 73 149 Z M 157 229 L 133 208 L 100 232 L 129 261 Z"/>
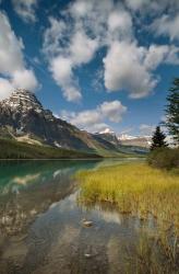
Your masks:
<path fill-rule="evenodd" d="M 26 68 L 23 42 L 16 37 L 3 12 L 0 12 L 0 99 L 8 96 L 14 88 L 34 91 L 38 82 L 34 71 Z"/>

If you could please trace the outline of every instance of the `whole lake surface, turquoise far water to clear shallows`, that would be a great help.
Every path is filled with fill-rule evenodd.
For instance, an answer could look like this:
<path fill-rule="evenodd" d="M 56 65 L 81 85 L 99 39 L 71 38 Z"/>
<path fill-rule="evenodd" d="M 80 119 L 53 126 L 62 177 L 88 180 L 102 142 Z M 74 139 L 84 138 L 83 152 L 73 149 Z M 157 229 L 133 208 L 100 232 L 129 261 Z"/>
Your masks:
<path fill-rule="evenodd" d="M 136 273 L 130 255 L 153 221 L 76 202 L 72 175 L 111 163 L 119 161 L 1 162 L 0 273 Z"/>

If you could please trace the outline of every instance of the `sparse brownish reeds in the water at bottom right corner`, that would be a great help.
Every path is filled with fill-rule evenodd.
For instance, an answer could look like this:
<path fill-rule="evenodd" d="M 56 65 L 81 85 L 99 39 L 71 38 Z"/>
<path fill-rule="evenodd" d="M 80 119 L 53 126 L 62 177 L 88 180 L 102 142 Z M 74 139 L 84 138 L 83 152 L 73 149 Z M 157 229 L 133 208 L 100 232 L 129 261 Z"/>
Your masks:
<path fill-rule="evenodd" d="M 158 237 L 150 238 L 143 231 L 135 243 L 134 252 L 128 249 L 127 273 L 178 274 L 178 254 L 175 254 L 174 260 L 171 250 L 166 252 L 169 247 L 166 243 L 163 246 Z"/>

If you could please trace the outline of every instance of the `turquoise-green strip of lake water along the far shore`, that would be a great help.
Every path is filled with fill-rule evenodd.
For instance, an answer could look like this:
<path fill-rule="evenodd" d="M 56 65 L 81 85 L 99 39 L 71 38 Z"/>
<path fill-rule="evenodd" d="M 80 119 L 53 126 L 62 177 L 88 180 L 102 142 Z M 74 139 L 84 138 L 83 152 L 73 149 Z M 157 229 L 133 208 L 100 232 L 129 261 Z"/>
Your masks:
<path fill-rule="evenodd" d="M 0 194 L 20 189 L 28 189 L 31 184 L 53 181 L 58 174 L 72 174 L 79 169 L 93 168 L 97 161 L 1 161 Z"/>

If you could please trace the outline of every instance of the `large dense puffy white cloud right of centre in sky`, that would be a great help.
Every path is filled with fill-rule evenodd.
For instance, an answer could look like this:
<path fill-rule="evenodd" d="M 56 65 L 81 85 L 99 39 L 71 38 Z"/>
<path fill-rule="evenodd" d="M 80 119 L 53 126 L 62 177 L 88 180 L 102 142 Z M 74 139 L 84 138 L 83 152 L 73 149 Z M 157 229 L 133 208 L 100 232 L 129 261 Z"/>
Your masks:
<path fill-rule="evenodd" d="M 135 44 L 114 43 L 104 59 L 106 88 L 127 89 L 132 98 L 148 94 L 156 82 L 143 64 L 144 54 L 144 48 Z"/>

